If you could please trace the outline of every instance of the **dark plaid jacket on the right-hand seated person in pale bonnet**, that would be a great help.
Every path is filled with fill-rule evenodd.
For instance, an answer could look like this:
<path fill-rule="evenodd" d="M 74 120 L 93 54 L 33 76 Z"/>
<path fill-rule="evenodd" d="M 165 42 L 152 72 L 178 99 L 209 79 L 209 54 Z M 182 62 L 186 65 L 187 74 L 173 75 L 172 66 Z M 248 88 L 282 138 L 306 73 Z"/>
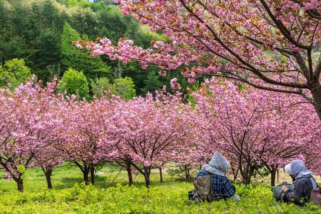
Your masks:
<path fill-rule="evenodd" d="M 307 202 L 307 195 L 313 189 L 310 176 L 300 177 L 293 183 L 293 190 L 287 190 L 285 195 L 288 201 L 294 202 L 297 205 L 304 205 Z M 302 201 L 300 201 L 303 199 Z"/>

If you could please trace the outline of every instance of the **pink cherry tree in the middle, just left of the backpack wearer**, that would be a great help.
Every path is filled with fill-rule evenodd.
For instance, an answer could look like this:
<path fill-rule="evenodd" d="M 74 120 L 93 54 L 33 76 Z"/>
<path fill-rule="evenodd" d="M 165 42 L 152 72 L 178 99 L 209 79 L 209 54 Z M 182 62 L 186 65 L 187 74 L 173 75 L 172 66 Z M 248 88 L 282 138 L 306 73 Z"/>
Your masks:
<path fill-rule="evenodd" d="M 179 96 L 161 93 L 155 100 L 150 93 L 145 98 L 135 97 L 118 108 L 109 130 L 115 142 L 111 155 L 138 170 L 148 187 L 152 165 L 175 159 L 174 151 L 183 147 L 181 142 L 188 145 L 194 128 L 190 120 L 193 112 Z"/>

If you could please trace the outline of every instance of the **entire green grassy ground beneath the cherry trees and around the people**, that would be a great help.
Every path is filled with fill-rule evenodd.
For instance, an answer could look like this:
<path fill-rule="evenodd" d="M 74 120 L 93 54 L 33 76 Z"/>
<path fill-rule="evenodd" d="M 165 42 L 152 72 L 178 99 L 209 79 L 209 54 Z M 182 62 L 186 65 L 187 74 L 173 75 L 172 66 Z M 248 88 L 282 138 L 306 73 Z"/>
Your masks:
<path fill-rule="evenodd" d="M 159 171 L 151 172 L 151 188 L 144 187 L 144 179 L 137 175 L 132 187 L 127 186 L 125 170 L 104 166 L 95 177 L 93 186 L 82 184 L 81 171 L 74 165 L 55 168 L 53 190 L 47 190 L 41 169 L 28 170 L 25 192 L 17 192 L 15 181 L 0 179 L 1 213 L 321 213 L 308 204 L 274 202 L 269 178 L 254 179 L 253 185 L 236 185 L 241 202 L 232 199 L 212 203 L 190 204 L 187 192 L 191 181 L 171 176 L 164 170 L 164 182 L 159 182 Z M 196 171 L 195 171 L 196 172 Z M 195 174 L 193 172 L 193 175 Z M 0 173 L 2 177 L 3 173 Z M 117 177 L 116 177 L 117 176 Z M 135 175 L 134 175 L 135 176 Z M 116 177 L 116 178 L 115 178 Z M 280 173 L 280 182 L 287 180 Z M 114 180 L 114 181 L 113 181 Z M 319 179 L 318 179 L 319 181 Z"/>

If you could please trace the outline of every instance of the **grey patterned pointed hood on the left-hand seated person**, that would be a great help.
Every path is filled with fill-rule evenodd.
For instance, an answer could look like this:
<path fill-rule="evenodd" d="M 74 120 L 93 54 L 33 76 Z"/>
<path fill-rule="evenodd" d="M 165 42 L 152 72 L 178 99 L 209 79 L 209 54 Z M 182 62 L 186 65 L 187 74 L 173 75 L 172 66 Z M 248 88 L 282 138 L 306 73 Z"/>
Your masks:
<path fill-rule="evenodd" d="M 203 169 L 213 174 L 225 176 L 225 172 L 228 170 L 230 163 L 219 152 L 215 152 L 209 164 L 205 164 Z"/>

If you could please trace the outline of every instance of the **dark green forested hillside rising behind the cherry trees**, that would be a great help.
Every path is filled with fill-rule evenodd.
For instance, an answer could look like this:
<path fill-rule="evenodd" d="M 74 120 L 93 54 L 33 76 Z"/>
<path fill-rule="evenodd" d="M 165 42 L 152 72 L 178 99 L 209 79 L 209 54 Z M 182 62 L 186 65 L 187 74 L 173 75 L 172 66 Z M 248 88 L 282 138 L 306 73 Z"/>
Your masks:
<path fill-rule="evenodd" d="M 135 45 L 150 47 L 150 40 L 166 40 L 162 32 L 148 31 L 131 16 L 123 16 L 110 1 L 90 3 L 85 0 L 0 0 L 0 65 L 19 58 L 36 73 L 39 80 L 50 81 L 54 75 L 61 77 L 69 67 L 82 71 L 88 81 L 106 77 L 111 83 L 120 77 L 130 77 L 136 95 L 144 96 L 166 84 L 169 77 L 158 76 L 159 68 L 149 66 L 142 70 L 136 62 L 118 65 L 107 56 L 90 56 L 79 50 L 72 40 L 96 40 L 108 37 L 117 45 L 119 38 L 128 38 Z M 121 75 L 114 75 L 121 67 Z M 151 72 L 149 74 L 149 72 Z M 178 74 L 179 75 L 179 74 Z M 178 78 L 183 88 L 185 78 Z"/>

